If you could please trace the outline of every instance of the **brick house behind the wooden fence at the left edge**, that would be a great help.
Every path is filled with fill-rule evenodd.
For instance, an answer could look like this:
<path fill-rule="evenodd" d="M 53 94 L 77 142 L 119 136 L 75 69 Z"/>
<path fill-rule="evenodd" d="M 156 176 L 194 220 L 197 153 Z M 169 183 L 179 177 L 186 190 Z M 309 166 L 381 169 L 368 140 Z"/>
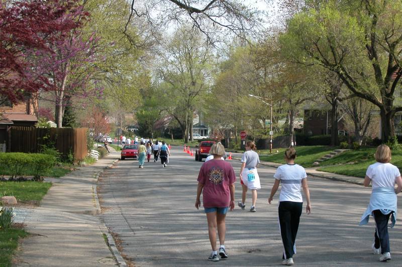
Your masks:
<path fill-rule="evenodd" d="M 16 105 L 0 104 L 0 144 L 7 142 L 11 126 L 34 126 L 38 118 L 38 101 L 27 97 Z"/>

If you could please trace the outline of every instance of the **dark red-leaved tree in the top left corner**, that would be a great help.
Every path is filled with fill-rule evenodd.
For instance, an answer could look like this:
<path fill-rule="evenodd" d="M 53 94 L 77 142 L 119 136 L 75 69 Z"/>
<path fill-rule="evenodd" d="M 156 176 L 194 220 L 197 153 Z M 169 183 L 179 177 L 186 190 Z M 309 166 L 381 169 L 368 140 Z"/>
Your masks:
<path fill-rule="evenodd" d="M 44 72 L 32 72 L 38 68 L 32 58 L 38 51 L 49 52 L 58 32 L 77 27 L 66 17 L 77 9 L 73 0 L 0 2 L 0 101 L 16 104 L 27 93 L 53 89 Z"/>

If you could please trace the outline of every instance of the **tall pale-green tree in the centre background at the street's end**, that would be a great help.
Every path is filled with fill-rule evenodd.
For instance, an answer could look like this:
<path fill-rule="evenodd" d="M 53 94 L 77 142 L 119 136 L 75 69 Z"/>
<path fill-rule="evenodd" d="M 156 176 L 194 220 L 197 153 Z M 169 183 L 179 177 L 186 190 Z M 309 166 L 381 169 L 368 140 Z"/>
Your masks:
<path fill-rule="evenodd" d="M 180 125 L 185 142 L 192 140 L 192 121 L 203 95 L 210 88 L 210 46 L 198 30 L 179 28 L 172 36 L 159 73 L 170 101 L 168 112 Z"/>

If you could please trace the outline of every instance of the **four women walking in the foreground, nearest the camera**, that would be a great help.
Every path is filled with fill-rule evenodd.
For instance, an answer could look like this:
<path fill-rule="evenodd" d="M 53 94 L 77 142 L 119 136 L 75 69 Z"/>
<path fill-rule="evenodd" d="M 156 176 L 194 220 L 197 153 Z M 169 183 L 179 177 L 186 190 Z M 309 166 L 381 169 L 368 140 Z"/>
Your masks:
<path fill-rule="evenodd" d="M 257 190 L 261 188 L 257 166 L 260 163 L 258 154 L 253 151 L 255 145 L 249 141 L 246 144 L 246 152 L 241 159 L 240 183 L 242 185 L 242 201 L 238 205 L 245 209 L 246 194 L 252 192 L 251 212 L 256 211 Z M 209 239 L 212 252 L 209 260 L 219 261 L 227 259 L 225 249 L 225 218 L 227 211 L 235 207 L 235 181 L 236 175 L 232 165 L 223 160 L 225 149 L 222 144 L 216 143 L 211 147 L 210 154 L 213 158 L 206 161 L 198 173 L 198 186 L 195 199 L 195 207 L 200 207 L 200 195 L 203 193 L 204 211 L 207 215 Z M 286 164 L 277 168 L 268 203 L 271 204 L 279 184 L 278 221 L 283 243 L 282 264 L 293 265 L 293 254 L 296 253 L 295 239 L 298 230 L 300 216 L 303 210 L 302 189 L 307 205 L 306 212 L 312 211 L 310 190 L 305 169 L 295 164 L 296 150 L 287 148 L 284 153 Z M 368 167 L 364 179 L 364 185 L 372 183 L 372 193 L 366 212 L 363 214 L 360 225 L 368 222 L 372 215 L 375 221 L 373 253 L 380 255 L 380 261 L 391 259 L 389 249 L 389 236 L 387 224 L 391 217 L 390 226 L 393 227 L 396 219 L 396 194 L 402 190 L 402 178 L 396 166 L 392 165 L 391 151 L 388 146 L 380 145 L 375 152 L 376 163 Z M 395 183 L 397 188 L 394 188 Z M 220 246 L 217 249 L 217 232 Z"/>

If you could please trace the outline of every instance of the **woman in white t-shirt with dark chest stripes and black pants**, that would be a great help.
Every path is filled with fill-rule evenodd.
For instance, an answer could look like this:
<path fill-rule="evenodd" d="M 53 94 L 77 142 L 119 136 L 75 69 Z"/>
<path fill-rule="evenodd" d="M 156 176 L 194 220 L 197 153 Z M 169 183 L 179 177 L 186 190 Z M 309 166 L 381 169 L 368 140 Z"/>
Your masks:
<path fill-rule="evenodd" d="M 291 147 L 285 151 L 286 164 L 279 166 L 274 174 L 275 183 L 272 187 L 268 203 L 271 204 L 273 196 L 282 184 L 279 195 L 279 228 L 283 242 L 283 265 L 293 265 L 293 254 L 296 253 L 296 234 L 300 215 L 302 215 L 303 198 L 302 187 L 306 196 L 307 214 L 311 212 L 310 191 L 307 184 L 305 169 L 294 163 L 296 150 Z"/>

